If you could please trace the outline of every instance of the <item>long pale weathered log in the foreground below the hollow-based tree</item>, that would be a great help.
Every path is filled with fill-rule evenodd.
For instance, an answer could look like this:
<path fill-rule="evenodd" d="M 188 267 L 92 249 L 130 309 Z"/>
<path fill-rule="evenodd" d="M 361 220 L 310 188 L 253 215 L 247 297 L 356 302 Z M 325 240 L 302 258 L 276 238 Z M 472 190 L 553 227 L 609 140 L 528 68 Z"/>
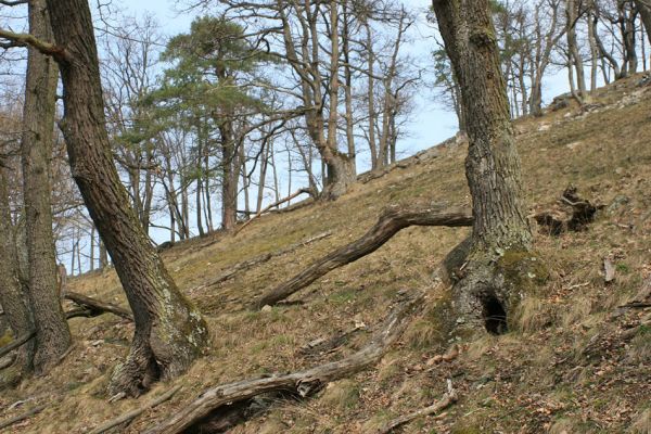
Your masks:
<path fill-rule="evenodd" d="M 422 306 L 423 298 L 424 293 L 419 292 L 416 296 L 398 303 L 373 333 L 370 343 L 349 357 L 305 371 L 242 380 L 208 388 L 194 401 L 146 433 L 176 434 L 204 423 L 216 423 L 216 421 L 218 423 L 221 414 L 228 416 L 229 409 L 264 394 L 284 392 L 303 398 L 312 395 L 329 382 L 352 375 L 376 363 L 405 330 L 407 326 L 405 318 Z"/>

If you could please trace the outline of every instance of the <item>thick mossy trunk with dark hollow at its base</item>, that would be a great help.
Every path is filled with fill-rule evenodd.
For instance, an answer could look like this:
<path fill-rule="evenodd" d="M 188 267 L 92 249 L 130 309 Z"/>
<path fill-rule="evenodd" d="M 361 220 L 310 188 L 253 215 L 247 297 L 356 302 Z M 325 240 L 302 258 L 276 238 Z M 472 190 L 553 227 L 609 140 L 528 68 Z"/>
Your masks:
<path fill-rule="evenodd" d="M 512 281 L 511 266 L 521 270 L 526 268 L 521 263 L 537 263 L 529 253 L 532 235 L 496 33 L 487 0 L 435 0 L 433 7 L 462 90 L 470 139 L 465 175 L 473 232 L 464 276 L 454 289 L 456 322 L 461 324 L 457 330 L 474 332 L 485 326 L 499 332 L 506 326 L 499 317 L 508 315 L 522 290 Z"/>

